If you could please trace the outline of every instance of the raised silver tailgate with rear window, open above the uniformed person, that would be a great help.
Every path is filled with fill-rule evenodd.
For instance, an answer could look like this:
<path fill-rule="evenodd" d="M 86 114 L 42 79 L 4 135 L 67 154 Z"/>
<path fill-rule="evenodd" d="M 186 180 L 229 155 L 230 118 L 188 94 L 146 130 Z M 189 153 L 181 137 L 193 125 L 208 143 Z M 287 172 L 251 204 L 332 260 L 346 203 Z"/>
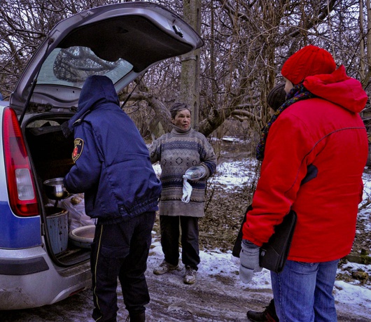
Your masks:
<path fill-rule="evenodd" d="M 136 1 L 85 10 L 50 30 L 20 76 L 10 106 L 18 113 L 73 111 L 88 76 L 109 76 L 120 92 L 163 59 L 203 44 L 179 15 L 155 3 Z"/>

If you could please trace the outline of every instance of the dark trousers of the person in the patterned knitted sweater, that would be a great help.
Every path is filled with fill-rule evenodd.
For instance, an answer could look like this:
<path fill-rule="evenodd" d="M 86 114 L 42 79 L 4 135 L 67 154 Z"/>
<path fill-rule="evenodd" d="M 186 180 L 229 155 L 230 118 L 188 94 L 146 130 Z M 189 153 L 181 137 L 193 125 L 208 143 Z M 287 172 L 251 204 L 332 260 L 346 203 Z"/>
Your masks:
<path fill-rule="evenodd" d="M 169 264 L 179 262 L 179 223 L 181 225 L 181 258 L 184 265 L 197 270 L 200 264 L 199 228 L 197 217 L 160 216 L 161 246 Z"/>

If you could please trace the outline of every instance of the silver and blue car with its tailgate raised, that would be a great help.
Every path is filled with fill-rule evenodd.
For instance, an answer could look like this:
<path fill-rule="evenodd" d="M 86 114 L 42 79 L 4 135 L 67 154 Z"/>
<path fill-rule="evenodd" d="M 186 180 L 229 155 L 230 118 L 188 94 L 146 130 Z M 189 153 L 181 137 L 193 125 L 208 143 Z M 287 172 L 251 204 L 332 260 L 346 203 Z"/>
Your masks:
<path fill-rule="evenodd" d="M 85 78 L 109 76 L 119 92 L 163 59 L 202 45 L 178 15 L 142 1 L 85 10 L 50 31 L 9 102 L 0 102 L 0 310 L 52 304 L 90 287 L 90 248 L 66 236 L 68 211 L 59 207 L 66 196 L 57 191 L 50 205 L 45 184 L 72 166 L 73 136 L 61 125 L 76 112 Z"/>

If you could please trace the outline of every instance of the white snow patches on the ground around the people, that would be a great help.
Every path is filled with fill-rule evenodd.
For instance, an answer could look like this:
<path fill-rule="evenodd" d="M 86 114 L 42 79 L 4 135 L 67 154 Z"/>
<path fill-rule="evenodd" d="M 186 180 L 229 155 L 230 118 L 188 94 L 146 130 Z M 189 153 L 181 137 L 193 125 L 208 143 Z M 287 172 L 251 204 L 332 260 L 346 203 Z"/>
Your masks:
<path fill-rule="evenodd" d="M 241 160 L 235 162 L 223 162 L 218 165 L 216 174 L 209 180 L 213 185 L 224 186 L 225 190 L 233 190 L 237 186 L 251 183 L 254 176 L 255 161 Z M 154 165 L 155 171 L 160 174 L 160 166 Z M 363 174 L 363 182 L 365 184 L 362 206 L 367 201 L 367 198 L 371 198 L 371 174 Z M 358 216 L 365 219 L 365 230 L 371 230 L 370 221 L 371 205 L 361 209 Z M 160 241 L 156 241 L 153 246 L 153 252 L 157 253 L 158 256 L 154 256 L 156 260 L 162 258 L 162 251 Z M 367 243 L 367 251 L 371 251 L 371 241 Z M 200 253 L 202 265 L 200 265 L 199 274 L 226 274 L 231 275 L 238 272 L 239 259 L 232 256 L 232 252 L 222 253 L 218 249 L 201 251 Z M 148 266 L 155 267 L 155 262 L 151 262 L 151 256 L 149 258 Z M 347 270 L 346 270 L 347 269 Z M 371 265 L 360 265 L 352 262 L 348 262 L 338 269 L 339 274 L 350 274 L 355 271 L 367 272 L 371 276 Z M 238 278 L 238 276 L 237 276 Z M 370 277 L 369 277 L 370 279 Z M 241 283 L 241 282 L 240 282 Z M 253 281 L 248 285 L 253 290 L 258 289 L 271 289 L 270 274 L 267 269 L 262 269 L 262 272 L 255 273 Z M 371 286 L 361 286 L 358 281 L 353 283 L 346 283 L 344 281 L 335 281 L 334 287 L 335 300 L 338 303 L 351 304 L 353 307 L 359 306 L 360 310 L 363 308 L 371 309 Z M 370 316 L 371 318 L 371 316 Z"/>

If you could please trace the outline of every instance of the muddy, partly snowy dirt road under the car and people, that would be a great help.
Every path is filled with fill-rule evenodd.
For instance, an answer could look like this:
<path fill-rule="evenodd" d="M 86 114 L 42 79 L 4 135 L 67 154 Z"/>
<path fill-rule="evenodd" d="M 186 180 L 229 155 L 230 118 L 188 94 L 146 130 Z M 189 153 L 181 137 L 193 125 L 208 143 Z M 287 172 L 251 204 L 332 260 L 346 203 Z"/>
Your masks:
<path fill-rule="evenodd" d="M 248 288 L 239 282 L 237 270 L 221 272 L 218 267 L 203 267 L 197 276 L 197 283 L 189 286 L 183 283 L 183 270 L 154 275 L 152 269 L 160 260 L 151 255 L 148 261 L 147 280 L 151 303 L 147 307 L 148 322 L 229 322 L 248 321 L 248 309 L 262 309 L 272 297 L 267 288 Z M 233 265 L 232 265 L 233 266 Z M 214 273 L 215 272 L 215 273 Z M 267 273 L 268 274 L 268 273 Z M 120 296 L 118 322 L 125 321 L 127 312 Z M 90 290 L 67 300 L 36 309 L 0 311 L 1 322 L 90 322 L 92 295 Z M 339 322 L 367 322 L 371 310 L 337 304 Z"/>

